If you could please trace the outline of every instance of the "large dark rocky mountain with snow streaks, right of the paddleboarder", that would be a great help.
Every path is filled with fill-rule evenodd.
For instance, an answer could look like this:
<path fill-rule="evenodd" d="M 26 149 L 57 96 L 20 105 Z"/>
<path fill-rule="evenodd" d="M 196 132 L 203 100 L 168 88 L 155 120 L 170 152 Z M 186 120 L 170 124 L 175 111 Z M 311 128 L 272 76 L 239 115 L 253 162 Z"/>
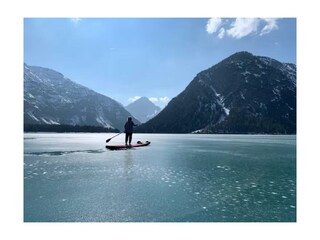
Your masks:
<path fill-rule="evenodd" d="M 231 55 L 200 72 L 141 132 L 295 133 L 296 65 Z"/>

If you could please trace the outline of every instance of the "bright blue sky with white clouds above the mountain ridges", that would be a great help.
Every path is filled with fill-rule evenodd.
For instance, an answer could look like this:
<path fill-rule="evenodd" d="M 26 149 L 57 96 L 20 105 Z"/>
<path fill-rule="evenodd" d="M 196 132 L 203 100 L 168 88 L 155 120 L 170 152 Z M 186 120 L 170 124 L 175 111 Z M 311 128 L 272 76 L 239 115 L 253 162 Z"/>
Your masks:
<path fill-rule="evenodd" d="M 123 105 L 156 105 L 238 51 L 296 63 L 296 19 L 25 18 L 24 61 Z"/>

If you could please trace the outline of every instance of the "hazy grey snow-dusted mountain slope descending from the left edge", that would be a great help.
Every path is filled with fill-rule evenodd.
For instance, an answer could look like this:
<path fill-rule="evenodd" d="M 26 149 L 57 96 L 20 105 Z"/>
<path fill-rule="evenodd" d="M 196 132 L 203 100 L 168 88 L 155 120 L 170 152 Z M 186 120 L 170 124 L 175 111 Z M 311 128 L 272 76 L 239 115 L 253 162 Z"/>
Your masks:
<path fill-rule="evenodd" d="M 59 72 L 24 64 L 25 124 L 91 125 L 122 130 L 129 115 L 115 100 Z"/>

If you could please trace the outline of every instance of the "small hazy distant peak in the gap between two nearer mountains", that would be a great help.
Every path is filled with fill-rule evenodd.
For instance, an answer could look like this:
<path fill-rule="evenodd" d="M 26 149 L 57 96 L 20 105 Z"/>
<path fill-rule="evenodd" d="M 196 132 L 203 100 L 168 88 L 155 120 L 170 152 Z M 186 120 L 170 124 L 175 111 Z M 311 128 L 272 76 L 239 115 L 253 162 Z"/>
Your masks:
<path fill-rule="evenodd" d="M 130 103 L 126 106 L 126 109 L 142 123 L 155 117 L 161 111 L 161 108 L 156 106 L 147 97 L 141 97 L 133 103 Z"/>

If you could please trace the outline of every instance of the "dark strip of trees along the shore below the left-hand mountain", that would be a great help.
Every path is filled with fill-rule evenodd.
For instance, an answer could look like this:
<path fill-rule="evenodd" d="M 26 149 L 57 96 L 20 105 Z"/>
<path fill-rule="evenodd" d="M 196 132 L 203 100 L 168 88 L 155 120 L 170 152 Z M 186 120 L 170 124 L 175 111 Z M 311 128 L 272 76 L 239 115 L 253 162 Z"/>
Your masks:
<path fill-rule="evenodd" d="M 88 133 L 108 133 L 120 132 L 118 129 L 104 128 L 99 126 L 79 126 L 79 125 L 49 125 L 49 124 L 24 124 L 24 132 L 88 132 Z"/>

